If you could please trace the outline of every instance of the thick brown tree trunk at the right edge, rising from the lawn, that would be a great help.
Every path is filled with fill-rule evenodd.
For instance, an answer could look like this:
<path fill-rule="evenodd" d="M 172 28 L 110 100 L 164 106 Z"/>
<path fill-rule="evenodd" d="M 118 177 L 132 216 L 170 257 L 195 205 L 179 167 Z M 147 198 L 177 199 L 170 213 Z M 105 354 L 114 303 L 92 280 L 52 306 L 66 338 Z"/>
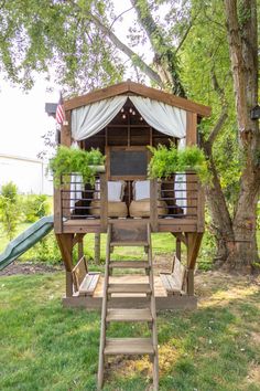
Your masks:
<path fill-rule="evenodd" d="M 257 2 L 225 0 L 227 35 L 234 76 L 237 121 L 245 158 L 240 193 L 232 222 L 235 245 L 227 265 L 237 271 L 253 271 L 259 262 L 256 225 L 260 191 L 259 124 L 250 119 L 258 104 Z"/>

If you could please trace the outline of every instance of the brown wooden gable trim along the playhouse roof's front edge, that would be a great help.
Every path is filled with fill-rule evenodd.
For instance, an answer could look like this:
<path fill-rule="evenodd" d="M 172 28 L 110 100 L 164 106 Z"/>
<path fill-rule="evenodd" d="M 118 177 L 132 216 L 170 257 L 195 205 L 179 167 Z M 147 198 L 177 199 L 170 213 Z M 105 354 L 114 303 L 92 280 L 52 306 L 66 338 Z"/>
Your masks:
<path fill-rule="evenodd" d="M 107 99 L 117 95 L 140 95 L 143 97 L 150 97 L 151 99 L 163 102 L 170 106 L 182 108 L 186 112 L 196 113 L 198 116 L 210 116 L 212 108 L 197 104 L 193 101 L 182 98 L 162 91 L 147 87 L 139 83 L 123 82 L 112 85 L 107 88 L 97 89 L 83 96 L 76 96 L 72 99 L 64 102 L 65 110 L 72 110 L 77 107 L 86 106 L 95 102 Z"/>

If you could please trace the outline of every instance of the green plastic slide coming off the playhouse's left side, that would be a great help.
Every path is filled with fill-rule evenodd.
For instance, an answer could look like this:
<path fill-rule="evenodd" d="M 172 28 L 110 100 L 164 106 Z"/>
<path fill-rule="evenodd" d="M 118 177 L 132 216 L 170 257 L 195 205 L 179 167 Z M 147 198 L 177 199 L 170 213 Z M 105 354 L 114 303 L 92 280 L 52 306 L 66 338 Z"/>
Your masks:
<path fill-rule="evenodd" d="M 0 271 L 13 261 L 15 261 L 20 255 L 25 253 L 31 249 L 36 242 L 44 237 L 53 229 L 53 215 L 42 218 L 34 224 L 29 226 L 23 233 L 13 239 L 0 254 Z"/>

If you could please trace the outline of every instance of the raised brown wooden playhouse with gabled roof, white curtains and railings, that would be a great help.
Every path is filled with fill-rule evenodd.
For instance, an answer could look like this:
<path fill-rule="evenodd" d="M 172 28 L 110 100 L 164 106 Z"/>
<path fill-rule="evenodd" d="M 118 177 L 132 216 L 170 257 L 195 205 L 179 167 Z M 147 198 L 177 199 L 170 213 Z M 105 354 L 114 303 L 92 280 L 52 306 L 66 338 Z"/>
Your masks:
<path fill-rule="evenodd" d="M 104 277 L 87 271 L 86 234 L 107 232 L 111 225 L 115 245 L 110 243 L 110 250 L 117 244 L 140 244 L 148 252 L 142 228 L 149 225 L 151 232 L 170 232 L 176 241 L 172 272 L 154 277 L 156 308 L 196 307 L 194 268 L 204 232 L 203 189 L 192 171 L 176 173 L 171 180 L 149 181 L 147 146 L 167 146 L 170 140 L 178 147 L 196 145 L 197 124 L 209 116 L 210 108 L 132 82 L 74 97 L 64 108 L 61 144 L 99 148 L 106 155 L 106 171 L 97 176 L 94 189 L 83 187 L 76 173 L 71 186 L 55 189 L 54 229 L 66 267 L 64 305 L 101 307 Z M 72 261 L 75 245 L 76 266 Z M 181 258 L 182 246 L 185 260 Z M 142 264 L 126 262 L 113 266 L 142 268 Z M 144 277 L 136 276 L 136 284 L 142 285 Z M 112 278 L 122 284 L 130 277 Z M 111 305 L 142 306 L 147 299 L 145 293 L 131 300 L 124 297 L 120 292 L 111 295 Z"/>

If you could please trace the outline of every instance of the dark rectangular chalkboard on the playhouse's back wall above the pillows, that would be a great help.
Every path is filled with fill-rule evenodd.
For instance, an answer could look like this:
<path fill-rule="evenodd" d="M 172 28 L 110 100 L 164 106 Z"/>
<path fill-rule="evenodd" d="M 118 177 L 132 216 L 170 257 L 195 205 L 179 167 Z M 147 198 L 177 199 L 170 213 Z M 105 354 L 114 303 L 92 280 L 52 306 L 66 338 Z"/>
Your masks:
<path fill-rule="evenodd" d="M 147 176 L 148 150 L 111 150 L 110 176 L 111 177 L 138 177 Z"/>

